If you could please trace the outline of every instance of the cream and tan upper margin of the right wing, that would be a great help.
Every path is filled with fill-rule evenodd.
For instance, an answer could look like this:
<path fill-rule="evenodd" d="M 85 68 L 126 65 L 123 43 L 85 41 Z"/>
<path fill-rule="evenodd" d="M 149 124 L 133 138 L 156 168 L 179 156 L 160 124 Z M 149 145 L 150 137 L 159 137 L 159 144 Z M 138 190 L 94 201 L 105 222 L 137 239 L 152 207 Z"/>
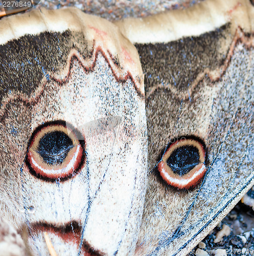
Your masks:
<path fill-rule="evenodd" d="M 184 10 L 126 18 L 114 24 L 133 44 L 154 44 L 198 36 L 226 23 L 232 24 L 232 32 L 238 26 L 245 32 L 253 32 L 254 6 L 249 0 L 207 0 Z"/>

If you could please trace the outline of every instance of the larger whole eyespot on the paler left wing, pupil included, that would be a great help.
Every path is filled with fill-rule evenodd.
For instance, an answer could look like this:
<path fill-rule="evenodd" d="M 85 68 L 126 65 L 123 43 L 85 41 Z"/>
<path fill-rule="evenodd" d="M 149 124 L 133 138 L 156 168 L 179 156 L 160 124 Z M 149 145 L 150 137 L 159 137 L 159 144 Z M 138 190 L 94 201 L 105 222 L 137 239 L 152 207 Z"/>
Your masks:
<path fill-rule="evenodd" d="M 27 152 L 26 164 L 32 175 L 51 182 L 66 180 L 84 164 L 85 141 L 72 125 L 47 122 L 33 132 Z"/>

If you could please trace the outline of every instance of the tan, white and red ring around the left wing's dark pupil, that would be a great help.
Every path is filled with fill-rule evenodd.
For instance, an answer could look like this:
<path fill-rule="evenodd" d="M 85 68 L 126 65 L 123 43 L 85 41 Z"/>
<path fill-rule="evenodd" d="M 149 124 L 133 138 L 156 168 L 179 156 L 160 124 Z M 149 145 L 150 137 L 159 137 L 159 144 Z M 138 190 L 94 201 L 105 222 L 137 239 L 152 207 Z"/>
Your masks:
<path fill-rule="evenodd" d="M 47 164 L 43 163 L 39 153 L 37 153 L 34 148 L 34 144 L 38 143 L 39 138 L 42 137 L 40 136 L 37 138 L 38 134 L 43 135 L 51 131 L 64 132 L 75 144 L 69 151 L 64 164 L 60 164 L 60 166 L 47 166 Z M 26 156 L 26 165 L 28 166 L 30 173 L 39 179 L 50 182 L 55 182 L 56 179 L 63 181 L 75 175 L 86 159 L 85 141 L 84 139 L 78 140 L 77 134 L 79 135 L 79 138 L 83 137 L 74 129 L 74 127 L 70 124 L 66 125 L 66 122 L 61 120 L 39 125 L 31 136 Z"/>

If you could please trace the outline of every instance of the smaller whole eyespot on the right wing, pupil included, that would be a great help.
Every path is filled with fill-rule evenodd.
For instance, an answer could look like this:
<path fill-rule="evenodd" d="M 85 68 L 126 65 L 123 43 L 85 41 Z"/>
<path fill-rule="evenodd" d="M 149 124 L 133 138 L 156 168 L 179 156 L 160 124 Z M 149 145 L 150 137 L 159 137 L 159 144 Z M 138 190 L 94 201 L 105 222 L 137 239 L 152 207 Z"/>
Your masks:
<path fill-rule="evenodd" d="M 205 144 L 196 137 L 182 137 L 171 142 L 158 163 L 161 177 L 171 186 L 193 188 L 206 172 Z"/>

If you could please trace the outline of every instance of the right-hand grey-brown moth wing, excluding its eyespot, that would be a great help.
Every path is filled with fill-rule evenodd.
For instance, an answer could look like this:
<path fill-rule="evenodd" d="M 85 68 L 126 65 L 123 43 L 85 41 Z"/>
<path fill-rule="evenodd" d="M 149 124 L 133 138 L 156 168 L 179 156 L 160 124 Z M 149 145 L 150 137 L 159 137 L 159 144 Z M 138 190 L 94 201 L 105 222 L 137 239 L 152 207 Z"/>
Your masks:
<path fill-rule="evenodd" d="M 253 17 L 250 1 L 211 0 L 116 23 L 145 74 L 150 174 L 136 255 L 187 254 L 254 184 Z M 157 163 L 187 136 L 209 160 L 199 183 L 179 189 Z"/>

